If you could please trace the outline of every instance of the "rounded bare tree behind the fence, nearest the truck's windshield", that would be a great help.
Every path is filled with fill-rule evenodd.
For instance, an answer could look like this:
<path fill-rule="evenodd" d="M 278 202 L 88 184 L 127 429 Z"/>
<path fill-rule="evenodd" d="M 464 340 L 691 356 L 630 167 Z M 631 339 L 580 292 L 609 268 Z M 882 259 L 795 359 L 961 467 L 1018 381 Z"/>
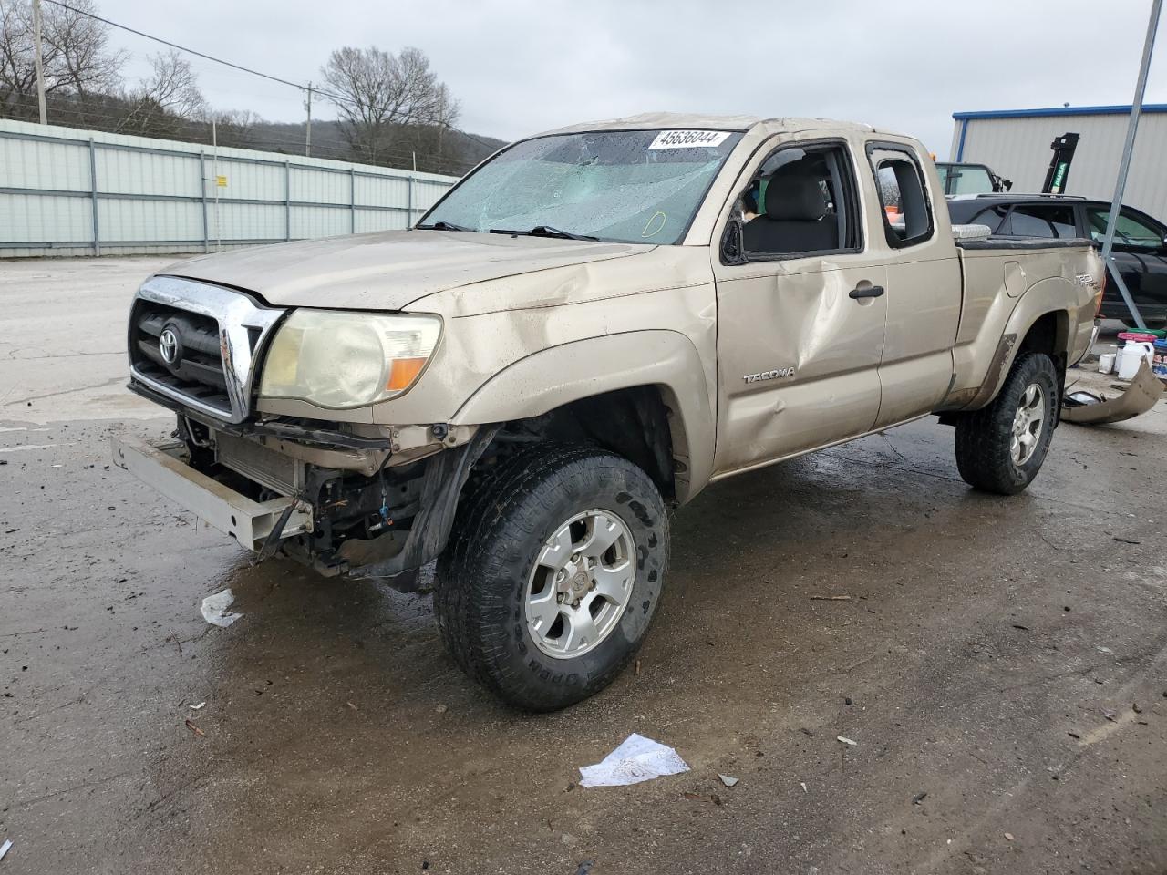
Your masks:
<path fill-rule="evenodd" d="M 344 47 L 333 51 L 321 75 L 349 145 L 368 161 L 385 156 L 401 126 L 447 126 L 457 118 L 457 102 L 420 49 L 393 55 Z"/>

